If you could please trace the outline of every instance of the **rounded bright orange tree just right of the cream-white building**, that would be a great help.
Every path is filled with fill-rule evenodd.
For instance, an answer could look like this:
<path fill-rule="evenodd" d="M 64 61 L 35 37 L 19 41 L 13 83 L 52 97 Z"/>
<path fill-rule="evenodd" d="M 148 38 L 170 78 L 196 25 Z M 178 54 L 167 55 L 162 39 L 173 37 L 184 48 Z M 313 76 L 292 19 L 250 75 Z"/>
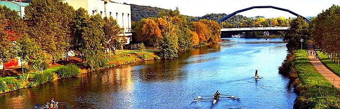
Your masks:
<path fill-rule="evenodd" d="M 144 42 L 147 45 L 157 45 L 157 39 L 160 39 L 162 34 L 157 23 L 152 18 L 143 18 L 136 24 L 136 39 Z"/>

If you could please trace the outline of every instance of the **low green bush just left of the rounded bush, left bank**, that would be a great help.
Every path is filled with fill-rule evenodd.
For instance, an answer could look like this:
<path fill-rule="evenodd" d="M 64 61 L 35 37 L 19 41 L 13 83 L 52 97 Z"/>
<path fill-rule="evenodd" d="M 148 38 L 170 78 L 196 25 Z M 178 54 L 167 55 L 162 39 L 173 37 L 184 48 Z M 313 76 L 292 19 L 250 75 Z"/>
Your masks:
<path fill-rule="evenodd" d="M 34 77 L 29 78 L 29 80 L 31 81 L 31 83 L 29 84 L 29 86 L 34 86 L 37 84 L 42 84 L 48 81 L 52 81 L 53 80 L 53 72 L 44 72 L 42 75 L 41 74 L 36 74 L 34 75 Z"/>

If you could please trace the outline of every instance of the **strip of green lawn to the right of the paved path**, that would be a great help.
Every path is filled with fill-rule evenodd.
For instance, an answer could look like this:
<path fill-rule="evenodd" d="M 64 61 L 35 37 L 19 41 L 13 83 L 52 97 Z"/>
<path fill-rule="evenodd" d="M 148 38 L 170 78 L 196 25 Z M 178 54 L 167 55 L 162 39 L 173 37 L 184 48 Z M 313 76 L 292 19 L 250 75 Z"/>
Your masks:
<path fill-rule="evenodd" d="M 327 57 L 327 55 L 321 53 L 320 51 L 317 51 L 319 54 L 320 60 L 325 64 L 331 71 L 336 73 L 337 75 L 340 75 L 340 65 L 337 63 L 334 63 Z"/>

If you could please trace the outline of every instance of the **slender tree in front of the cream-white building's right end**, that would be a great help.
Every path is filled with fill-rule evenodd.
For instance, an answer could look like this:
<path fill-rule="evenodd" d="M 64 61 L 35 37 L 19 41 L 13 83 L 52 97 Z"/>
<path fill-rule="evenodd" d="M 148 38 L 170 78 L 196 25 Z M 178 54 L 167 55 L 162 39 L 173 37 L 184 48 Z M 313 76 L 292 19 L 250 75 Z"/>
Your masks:
<path fill-rule="evenodd" d="M 123 31 L 123 28 L 120 28 L 117 20 L 113 19 L 112 16 L 107 18 L 104 17 L 104 25 L 103 25 L 103 31 L 104 31 L 104 38 L 105 38 L 105 48 L 106 48 L 106 61 L 109 61 L 109 54 L 111 54 L 111 51 L 115 53 L 116 49 L 119 49 L 123 44 L 119 38 L 119 33 Z"/>

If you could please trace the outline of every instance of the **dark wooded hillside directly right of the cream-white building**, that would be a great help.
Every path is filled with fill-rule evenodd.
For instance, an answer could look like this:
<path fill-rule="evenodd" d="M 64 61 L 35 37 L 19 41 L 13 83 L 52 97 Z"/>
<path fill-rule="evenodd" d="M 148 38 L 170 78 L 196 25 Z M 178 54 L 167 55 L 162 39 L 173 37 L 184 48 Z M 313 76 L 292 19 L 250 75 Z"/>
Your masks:
<path fill-rule="evenodd" d="M 131 20 L 132 21 L 138 21 L 142 18 L 157 16 L 160 11 L 167 10 L 167 9 L 151 7 L 151 6 L 140 6 L 136 4 L 130 4 L 130 5 L 131 5 Z"/>

